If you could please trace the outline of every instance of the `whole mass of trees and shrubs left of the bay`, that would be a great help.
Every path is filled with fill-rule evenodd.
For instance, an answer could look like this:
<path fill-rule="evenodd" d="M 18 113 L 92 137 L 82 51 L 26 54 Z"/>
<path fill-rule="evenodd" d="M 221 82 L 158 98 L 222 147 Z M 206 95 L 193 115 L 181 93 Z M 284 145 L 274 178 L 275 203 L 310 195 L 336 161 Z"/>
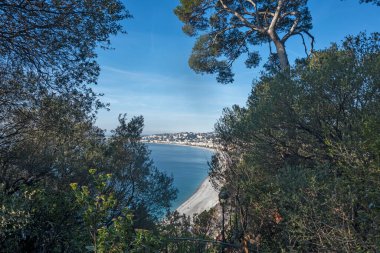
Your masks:
<path fill-rule="evenodd" d="M 123 32 L 124 4 L 1 1 L 0 14 L 0 251 L 137 250 L 176 190 L 142 117 L 110 137 L 94 125 L 95 50 Z"/>

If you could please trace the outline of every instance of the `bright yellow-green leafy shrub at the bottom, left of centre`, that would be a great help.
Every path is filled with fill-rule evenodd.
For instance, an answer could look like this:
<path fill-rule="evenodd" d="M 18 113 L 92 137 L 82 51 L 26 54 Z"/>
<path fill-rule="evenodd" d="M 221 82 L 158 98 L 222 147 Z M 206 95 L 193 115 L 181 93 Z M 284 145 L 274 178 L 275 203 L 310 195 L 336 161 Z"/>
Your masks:
<path fill-rule="evenodd" d="M 117 198 L 110 187 L 111 174 L 97 174 L 89 170 L 94 185 L 78 186 L 71 183 L 75 199 L 82 209 L 84 230 L 89 231 L 92 245 L 86 248 L 94 252 L 138 252 L 154 237 L 143 230 L 134 230 L 132 213 L 127 207 L 118 210 Z"/>

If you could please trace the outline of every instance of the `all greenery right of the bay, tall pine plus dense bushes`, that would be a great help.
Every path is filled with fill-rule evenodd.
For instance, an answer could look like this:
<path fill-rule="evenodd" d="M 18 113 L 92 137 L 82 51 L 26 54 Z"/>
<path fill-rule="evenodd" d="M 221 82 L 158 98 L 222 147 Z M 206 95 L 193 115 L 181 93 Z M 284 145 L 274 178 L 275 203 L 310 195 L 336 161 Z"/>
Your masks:
<path fill-rule="evenodd" d="M 227 241 L 245 252 L 378 251 L 379 34 L 315 51 L 307 1 L 182 0 L 175 13 L 199 35 L 190 67 L 219 82 L 233 81 L 243 54 L 258 66 L 254 46 L 276 48 L 246 107 L 215 125 L 222 148 L 210 176 L 229 192 Z M 294 35 L 306 54 L 309 37 L 311 53 L 291 66 Z"/>

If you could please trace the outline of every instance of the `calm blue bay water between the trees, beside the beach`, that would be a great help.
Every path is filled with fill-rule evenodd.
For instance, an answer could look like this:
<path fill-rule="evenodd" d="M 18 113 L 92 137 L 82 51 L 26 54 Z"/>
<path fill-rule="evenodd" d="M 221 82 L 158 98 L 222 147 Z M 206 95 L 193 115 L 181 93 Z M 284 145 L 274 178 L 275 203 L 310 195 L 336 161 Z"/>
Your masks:
<path fill-rule="evenodd" d="M 185 202 L 208 175 L 207 162 L 212 151 L 203 148 L 169 144 L 148 144 L 151 158 L 161 171 L 174 178 L 178 197 L 173 202 L 176 209 Z"/>

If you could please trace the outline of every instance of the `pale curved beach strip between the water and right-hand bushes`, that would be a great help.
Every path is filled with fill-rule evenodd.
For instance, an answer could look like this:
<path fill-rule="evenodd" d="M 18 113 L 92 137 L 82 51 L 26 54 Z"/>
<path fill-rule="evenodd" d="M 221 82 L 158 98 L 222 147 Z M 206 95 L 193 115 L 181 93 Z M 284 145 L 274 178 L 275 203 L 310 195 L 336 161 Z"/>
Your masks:
<path fill-rule="evenodd" d="M 209 179 L 207 177 L 196 192 L 177 208 L 180 214 L 192 217 L 193 214 L 209 210 L 218 204 L 218 192 L 212 187 Z"/>

